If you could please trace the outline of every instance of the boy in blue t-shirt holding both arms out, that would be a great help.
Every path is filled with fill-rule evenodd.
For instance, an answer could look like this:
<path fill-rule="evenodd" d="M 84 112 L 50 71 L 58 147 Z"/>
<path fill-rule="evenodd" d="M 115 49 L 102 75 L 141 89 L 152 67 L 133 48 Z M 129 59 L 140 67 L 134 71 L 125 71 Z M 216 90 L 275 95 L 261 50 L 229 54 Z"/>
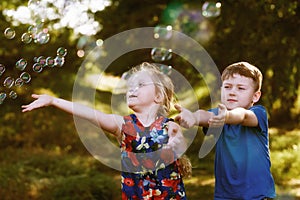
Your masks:
<path fill-rule="evenodd" d="M 215 200 L 270 199 L 275 186 L 270 172 L 268 119 L 254 105 L 261 96 L 262 73 L 247 62 L 229 65 L 222 73 L 221 104 L 209 111 L 176 105 L 180 125 L 223 126 L 216 143 Z"/>

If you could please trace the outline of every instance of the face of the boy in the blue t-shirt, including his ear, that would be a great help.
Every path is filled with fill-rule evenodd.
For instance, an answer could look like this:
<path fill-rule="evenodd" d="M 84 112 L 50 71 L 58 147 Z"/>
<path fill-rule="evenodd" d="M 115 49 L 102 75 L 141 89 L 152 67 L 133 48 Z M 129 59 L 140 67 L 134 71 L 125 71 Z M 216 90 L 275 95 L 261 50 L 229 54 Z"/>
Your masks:
<path fill-rule="evenodd" d="M 237 107 L 250 108 L 260 98 L 260 91 L 254 91 L 251 78 L 233 74 L 223 81 L 221 87 L 221 102 L 228 110 Z"/>

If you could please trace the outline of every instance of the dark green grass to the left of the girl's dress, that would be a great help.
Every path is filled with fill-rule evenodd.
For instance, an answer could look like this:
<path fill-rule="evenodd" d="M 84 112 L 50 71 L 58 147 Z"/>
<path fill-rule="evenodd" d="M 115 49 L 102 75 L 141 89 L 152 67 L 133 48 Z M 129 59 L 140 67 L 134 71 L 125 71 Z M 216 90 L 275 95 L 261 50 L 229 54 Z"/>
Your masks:
<path fill-rule="evenodd" d="M 90 156 L 8 148 L 1 151 L 0 158 L 0 195 L 5 200 L 90 200 L 120 196 L 119 192 L 111 192 L 120 190 L 108 174 L 111 170 Z"/>

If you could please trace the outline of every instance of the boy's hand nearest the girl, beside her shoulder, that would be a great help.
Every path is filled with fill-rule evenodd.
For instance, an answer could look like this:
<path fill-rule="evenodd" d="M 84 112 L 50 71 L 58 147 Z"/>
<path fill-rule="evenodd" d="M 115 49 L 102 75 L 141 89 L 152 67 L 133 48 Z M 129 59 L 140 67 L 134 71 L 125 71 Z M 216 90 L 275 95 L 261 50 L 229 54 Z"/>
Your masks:
<path fill-rule="evenodd" d="M 178 104 L 174 105 L 174 107 L 176 108 L 177 111 L 180 112 L 175 117 L 175 121 L 177 121 L 180 124 L 180 126 L 184 128 L 191 128 L 196 124 L 195 116 L 191 111 L 181 107 Z"/>

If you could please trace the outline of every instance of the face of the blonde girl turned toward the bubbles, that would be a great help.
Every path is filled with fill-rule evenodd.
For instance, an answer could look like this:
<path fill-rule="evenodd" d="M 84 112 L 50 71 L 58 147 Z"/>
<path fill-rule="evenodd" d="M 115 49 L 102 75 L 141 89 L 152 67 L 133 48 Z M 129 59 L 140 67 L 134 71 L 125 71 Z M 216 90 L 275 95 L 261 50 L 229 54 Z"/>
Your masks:
<path fill-rule="evenodd" d="M 135 73 L 127 83 L 127 105 L 132 110 L 151 107 L 156 103 L 155 83 L 149 73 L 140 71 Z"/>

